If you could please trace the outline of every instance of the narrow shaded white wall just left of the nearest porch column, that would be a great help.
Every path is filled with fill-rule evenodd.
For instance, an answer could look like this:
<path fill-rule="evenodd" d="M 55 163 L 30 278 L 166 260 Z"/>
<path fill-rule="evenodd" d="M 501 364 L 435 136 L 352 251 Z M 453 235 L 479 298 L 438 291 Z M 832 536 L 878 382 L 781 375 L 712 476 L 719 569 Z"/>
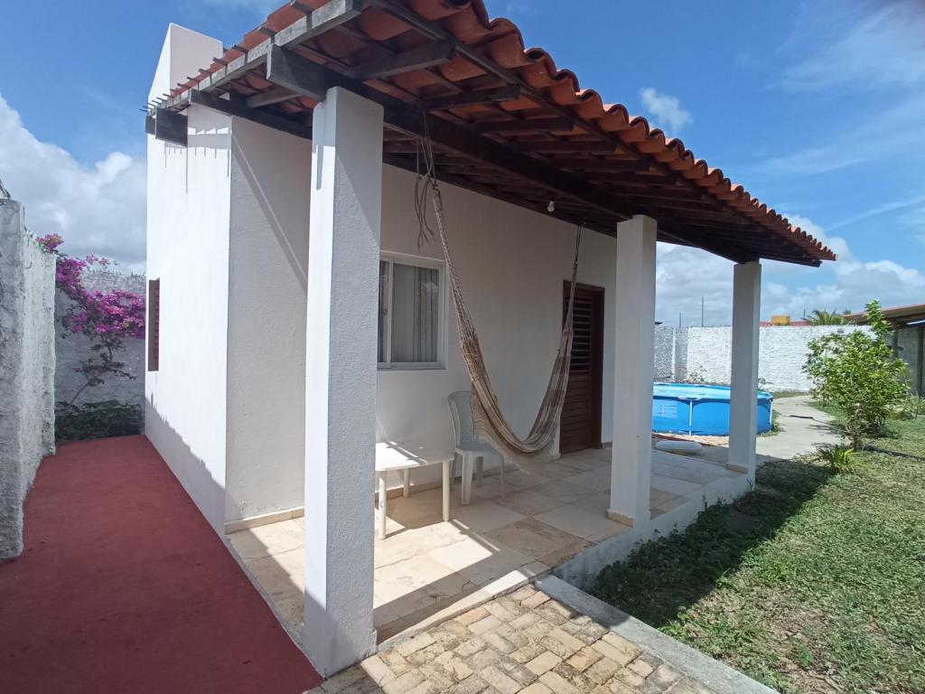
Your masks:
<path fill-rule="evenodd" d="M 302 506 L 312 146 L 231 125 L 226 520 Z"/>

